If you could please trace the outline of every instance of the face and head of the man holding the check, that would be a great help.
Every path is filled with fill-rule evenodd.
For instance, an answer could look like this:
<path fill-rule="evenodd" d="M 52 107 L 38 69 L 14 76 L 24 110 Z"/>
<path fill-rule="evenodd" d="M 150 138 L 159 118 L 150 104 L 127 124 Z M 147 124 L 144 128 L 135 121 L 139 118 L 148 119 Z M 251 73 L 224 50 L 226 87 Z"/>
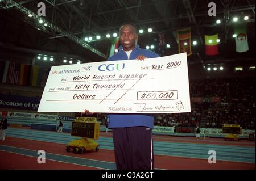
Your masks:
<path fill-rule="evenodd" d="M 137 44 L 138 35 L 135 28 L 130 24 L 124 25 L 119 32 L 119 42 L 123 46 L 123 50 L 130 51 Z"/>

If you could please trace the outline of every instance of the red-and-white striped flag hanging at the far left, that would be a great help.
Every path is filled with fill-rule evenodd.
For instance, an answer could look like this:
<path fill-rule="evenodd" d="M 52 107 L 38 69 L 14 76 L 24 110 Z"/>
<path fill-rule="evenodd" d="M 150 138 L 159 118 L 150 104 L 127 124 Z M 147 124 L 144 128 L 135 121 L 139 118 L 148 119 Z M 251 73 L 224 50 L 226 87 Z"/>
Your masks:
<path fill-rule="evenodd" d="M 20 63 L 10 62 L 7 83 L 18 84 L 19 81 Z"/>

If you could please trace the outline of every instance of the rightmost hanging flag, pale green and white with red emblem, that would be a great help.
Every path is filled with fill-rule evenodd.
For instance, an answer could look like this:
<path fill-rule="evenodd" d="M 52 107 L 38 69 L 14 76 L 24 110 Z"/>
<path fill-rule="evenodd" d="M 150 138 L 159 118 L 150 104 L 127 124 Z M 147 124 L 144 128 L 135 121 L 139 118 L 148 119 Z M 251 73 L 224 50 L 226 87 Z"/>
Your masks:
<path fill-rule="evenodd" d="M 248 37 L 247 37 L 247 24 L 236 24 L 234 26 L 234 34 L 236 40 L 236 52 L 242 53 L 249 50 Z"/>

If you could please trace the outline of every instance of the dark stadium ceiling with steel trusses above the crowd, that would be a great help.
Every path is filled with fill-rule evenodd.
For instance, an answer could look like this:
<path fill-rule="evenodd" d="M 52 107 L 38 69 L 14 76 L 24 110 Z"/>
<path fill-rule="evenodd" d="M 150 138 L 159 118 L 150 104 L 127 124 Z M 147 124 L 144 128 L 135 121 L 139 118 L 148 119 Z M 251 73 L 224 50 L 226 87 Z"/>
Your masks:
<path fill-rule="evenodd" d="M 45 3 L 46 16 L 37 15 L 39 2 Z M 216 3 L 216 16 L 208 15 L 210 2 Z M 236 53 L 232 19 L 238 16 L 238 22 L 243 21 L 245 15 L 249 16 L 250 49 Z M 39 18 L 44 22 L 40 24 Z M 217 19 L 220 24 L 216 24 Z M 196 40 L 197 45 L 192 46 L 190 63 L 255 59 L 255 0 L 0 0 L 0 20 L 2 57 L 19 53 L 24 57 L 52 54 L 59 65 L 65 56 L 82 62 L 105 61 L 111 39 L 106 38 L 106 33 L 112 36 L 122 23 L 132 22 L 144 30 L 139 40 L 142 48 L 158 44 L 154 42 L 159 39 L 158 33 L 165 33 L 165 42 L 171 47 L 163 55 L 176 54 L 177 29 L 191 27 L 191 40 Z M 218 26 L 221 39 L 218 56 L 204 54 L 205 26 Z M 147 28 L 152 28 L 152 32 L 148 33 Z M 96 40 L 97 35 L 100 40 Z M 89 36 L 93 40 L 84 41 Z"/>

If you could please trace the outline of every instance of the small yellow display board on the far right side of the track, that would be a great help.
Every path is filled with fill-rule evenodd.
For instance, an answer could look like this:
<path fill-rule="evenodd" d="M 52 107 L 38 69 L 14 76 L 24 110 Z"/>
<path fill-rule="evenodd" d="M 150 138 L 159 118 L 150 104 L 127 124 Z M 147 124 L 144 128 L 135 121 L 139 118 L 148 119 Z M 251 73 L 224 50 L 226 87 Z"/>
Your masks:
<path fill-rule="evenodd" d="M 224 124 L 223 127 L 223 133 L 228 133 L 227 136 L 225 136 L 224 140 L 230 140 L 230 141 L 239 141 L 240 138 L 237 134 L 242 133 L 242 127 L 239 124 Z"/>

